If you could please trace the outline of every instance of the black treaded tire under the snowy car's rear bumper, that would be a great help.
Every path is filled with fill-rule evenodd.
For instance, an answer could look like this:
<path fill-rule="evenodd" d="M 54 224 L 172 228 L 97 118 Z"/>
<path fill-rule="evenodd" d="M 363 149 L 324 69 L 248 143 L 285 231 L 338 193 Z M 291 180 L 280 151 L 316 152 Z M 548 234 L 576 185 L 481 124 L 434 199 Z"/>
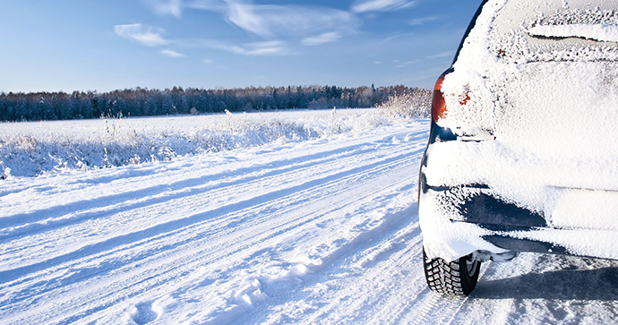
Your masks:
<path fill-rule="evenodd" d="M 444 295 L 469 295 L 476 287 L 481 270 L 480 261 L 464 256 L 447 262 L 440 258 L 429 259 L 423 250 L 423 267 L 430 289 Z"/>

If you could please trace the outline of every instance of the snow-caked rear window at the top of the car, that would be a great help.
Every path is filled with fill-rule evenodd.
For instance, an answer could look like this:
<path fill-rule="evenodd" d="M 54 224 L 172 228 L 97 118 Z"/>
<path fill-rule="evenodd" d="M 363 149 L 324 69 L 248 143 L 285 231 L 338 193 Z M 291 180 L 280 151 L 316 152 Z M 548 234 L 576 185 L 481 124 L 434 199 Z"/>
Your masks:
<path fill-rule="evenodd" d="M 507 61 L 618 61 L 618 2 L 511 0 L 487 46 Z"/>

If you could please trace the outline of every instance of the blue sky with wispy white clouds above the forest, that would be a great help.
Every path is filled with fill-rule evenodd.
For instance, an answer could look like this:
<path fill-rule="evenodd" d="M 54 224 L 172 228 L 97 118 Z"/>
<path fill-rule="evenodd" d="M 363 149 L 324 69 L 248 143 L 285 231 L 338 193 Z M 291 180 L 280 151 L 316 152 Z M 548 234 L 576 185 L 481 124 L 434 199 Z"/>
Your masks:
<path fill-rule="evenodd" d="M 4 0 L 0 91 L 430 88 L 480 0 Z"/>

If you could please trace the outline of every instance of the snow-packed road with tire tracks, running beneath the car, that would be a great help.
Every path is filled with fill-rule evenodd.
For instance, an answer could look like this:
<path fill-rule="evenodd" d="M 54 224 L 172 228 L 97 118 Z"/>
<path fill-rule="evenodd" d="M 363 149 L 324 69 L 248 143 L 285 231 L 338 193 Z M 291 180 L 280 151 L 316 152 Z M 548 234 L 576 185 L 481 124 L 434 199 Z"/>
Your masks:
<path fill-rule="evenodd" d="M 0 182 L 2 324 L 611 324 L 618 262 L 421 268 L 428 122 Z"/>

